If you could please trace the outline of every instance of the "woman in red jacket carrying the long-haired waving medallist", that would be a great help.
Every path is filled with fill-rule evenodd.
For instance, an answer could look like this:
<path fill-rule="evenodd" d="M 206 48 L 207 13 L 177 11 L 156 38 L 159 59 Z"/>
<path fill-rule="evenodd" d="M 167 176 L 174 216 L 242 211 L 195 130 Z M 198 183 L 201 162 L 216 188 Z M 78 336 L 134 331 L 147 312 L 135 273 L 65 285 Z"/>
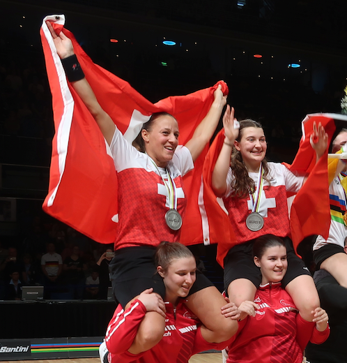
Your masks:
<path fill-rule="evenodd" d="M 254 301 L 242 302 L 238 308 L 247 318 L 242 320 L 240 331 L 227 348 L 226 362 L 301 363 L 307 341 L 298 338 L 297 330 L 312 323 L 302 319 L 293 299 L 281 286 L 288 267 L 286 244 L 275 235 L 263 235 L 254 242 L 253 251 L 261 286 Z M 311 342 L 323 343 L 330 332 L 327 313 L 316 308 L 311 311 L 311 320 Z"/>

